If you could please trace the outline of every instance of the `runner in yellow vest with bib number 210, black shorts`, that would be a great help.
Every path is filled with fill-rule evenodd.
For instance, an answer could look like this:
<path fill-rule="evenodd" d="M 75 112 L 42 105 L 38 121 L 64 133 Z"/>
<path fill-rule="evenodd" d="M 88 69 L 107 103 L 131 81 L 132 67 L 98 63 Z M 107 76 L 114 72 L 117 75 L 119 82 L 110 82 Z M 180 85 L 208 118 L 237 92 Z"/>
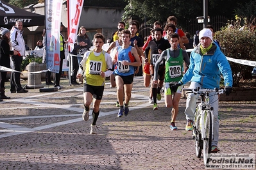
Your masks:
<path fill-rule="evenodd" d="M 93 101 L 92 124 L 90 125 L 90 134 L 96 133 L 96 121 L 99 116 L 99 104 L 103 96 L 105 77 L 112 74 L 113 65 L 110 55 L 102 50 L 104 36 L 96 33 L 93 39 L 94 50 L 85 52 L 81 67 L 78 70 L 77 77 L 80 78 L 84 71 L 83 78 L 83 100 L 85 109 L 83 111 L 83 120 L 89 120 L 90 104 Z M 106 71 L 107 70 L 107 71 Z"/>

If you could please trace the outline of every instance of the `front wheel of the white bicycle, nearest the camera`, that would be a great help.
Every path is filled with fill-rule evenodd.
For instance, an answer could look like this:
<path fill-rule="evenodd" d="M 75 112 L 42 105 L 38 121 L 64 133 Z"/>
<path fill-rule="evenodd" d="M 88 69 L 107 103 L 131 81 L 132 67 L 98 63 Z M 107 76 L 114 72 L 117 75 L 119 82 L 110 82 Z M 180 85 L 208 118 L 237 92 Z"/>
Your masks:
<path fill-rule="evenodd" d="M 205 112 L 205 137 L 203 139 L 203 162 L 207 163 L 208 154 L 212 150 L 212 114 Z"/>

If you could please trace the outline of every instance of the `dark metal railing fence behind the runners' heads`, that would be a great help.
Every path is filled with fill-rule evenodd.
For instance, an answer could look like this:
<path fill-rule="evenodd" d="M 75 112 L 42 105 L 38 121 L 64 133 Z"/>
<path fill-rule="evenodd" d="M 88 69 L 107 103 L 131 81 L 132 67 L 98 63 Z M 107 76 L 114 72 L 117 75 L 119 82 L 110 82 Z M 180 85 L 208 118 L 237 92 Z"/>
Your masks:
<path fill-rule="evenodd" d="M 228 17 L 225 16 L 215 16 L 210 17 L 209 24 L 214 27 L 215 31 L 219 31 L 221 30 L 221 27 L 225 27 L 227 23 L 230 23 L 231 20 L 232 19 L 228 19 Z M 164 26 L 166 26 L 166 22 L 162 23 L 163 29 Z M 140 26 L 139 34 L 141 34 L 142 37 L 149 36 L 151 29 L 153 29 L 153 24 L 147 24 L 146 22 L 144 22 Z M 192 37 L 197 30 L 203 29 L 203 23 L 198 23 L 198 19 L 187 19 L 181 29 L 184 33 L 189 32 Z"/>

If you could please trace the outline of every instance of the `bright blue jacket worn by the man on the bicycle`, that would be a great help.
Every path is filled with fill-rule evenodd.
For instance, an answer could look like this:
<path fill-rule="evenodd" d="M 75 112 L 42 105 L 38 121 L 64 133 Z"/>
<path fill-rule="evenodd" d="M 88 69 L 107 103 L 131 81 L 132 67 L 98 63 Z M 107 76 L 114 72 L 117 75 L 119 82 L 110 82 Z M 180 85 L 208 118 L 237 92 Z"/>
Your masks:
<path fill-rule="evenodd" d="M 232 87 L 232 71 L 226 56 L 221 52 L 215 43 L 205 54 L 200 51 L 198 45 L 190 57 L 190 65 L 187 72 L 180 80 L 183 84 L 194 81 L 201 84 L 202 88 L 219 88 L 221 74 L 224 78 L 224 85 Z"/>

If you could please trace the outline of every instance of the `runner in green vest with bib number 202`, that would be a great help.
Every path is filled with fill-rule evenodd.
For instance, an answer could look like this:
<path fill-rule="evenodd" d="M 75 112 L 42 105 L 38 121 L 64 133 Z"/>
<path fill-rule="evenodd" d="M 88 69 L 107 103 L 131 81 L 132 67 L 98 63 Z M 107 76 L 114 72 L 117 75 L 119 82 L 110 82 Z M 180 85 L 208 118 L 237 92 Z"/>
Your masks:
<path fill-rule="evenodd" d="M 171 48 L 164 50 L 161 53 L 160 58 L 157 60 L 157 63 L 155 63 L 155 75 L 153 82 L 157 84 L 159 65 L 162 61 L 165 61 L 166 72 L 164 74 L 164 82 L 166 83 L 166 88 L 164 89 L 164 100 L 166 107 L 173 107 L 171 110 L 170 128 L 171 130 L 177 130 L 175 120 L 178 115 L 178 102 L 180 101 L 180 97 L 182 97 L 182 86 L 177 88 L 170 88 L 170 86 L 176 84 L 176 82 L 182 79 L 183 61 L 185 61 L 185 66 L 187 68 L 189 66 L 189 56 L 185 50 L 178 47 L 178 44 L 180 43 L 180 36 L 178 34 L 169 34 L 168 40 L 171 44 Z"/>

